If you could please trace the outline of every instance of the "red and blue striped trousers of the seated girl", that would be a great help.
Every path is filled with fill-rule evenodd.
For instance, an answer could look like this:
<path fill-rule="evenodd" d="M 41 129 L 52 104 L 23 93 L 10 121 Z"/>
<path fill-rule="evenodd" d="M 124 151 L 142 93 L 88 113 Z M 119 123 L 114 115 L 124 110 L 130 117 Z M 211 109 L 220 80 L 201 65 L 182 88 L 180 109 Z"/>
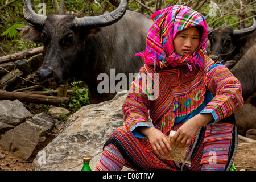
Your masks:
<path fill-rule="evenodd" d="M 172 127 L 177 130 L 182 123 Z M 166 160 L 155 154 L 147 138 L 136 138 L 126 126 L 116 129 L 105 143 L 97 170 L 229 170 L 237 150 L 233 117 L 205 125 L 189 145 L 191 164 Z M 111 164 L 112 166 L 110 166 Z M 114 167 L 113 167 L 114 166 Z"/>

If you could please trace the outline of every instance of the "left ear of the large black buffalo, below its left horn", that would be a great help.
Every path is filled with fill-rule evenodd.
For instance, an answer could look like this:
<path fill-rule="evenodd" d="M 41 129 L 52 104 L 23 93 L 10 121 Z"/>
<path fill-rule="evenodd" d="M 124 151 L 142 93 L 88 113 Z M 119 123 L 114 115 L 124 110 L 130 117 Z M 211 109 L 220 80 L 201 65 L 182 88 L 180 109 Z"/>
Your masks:
<path fill-rule="evenodd" d="M 22 27 L 22 30 L 20 31 L 20 36 L 23 39 L 32 40 L 34 42 L 42 42 L 41 39 L 42 32 L 38 31 L 33 26 L 24 26 Z"/>

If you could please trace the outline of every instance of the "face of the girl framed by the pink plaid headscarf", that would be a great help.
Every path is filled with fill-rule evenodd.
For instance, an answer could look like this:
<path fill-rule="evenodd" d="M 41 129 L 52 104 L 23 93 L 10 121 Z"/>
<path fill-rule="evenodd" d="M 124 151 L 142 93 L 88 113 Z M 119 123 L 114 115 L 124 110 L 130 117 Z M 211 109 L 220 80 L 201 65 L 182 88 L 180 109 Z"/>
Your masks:
<path fill-rule="evenodd" d="M 186 28 L 174 39 L 174 51 L 180 55 L 192 55 L 200 43 L 199 30 L 196 27 Z"/>

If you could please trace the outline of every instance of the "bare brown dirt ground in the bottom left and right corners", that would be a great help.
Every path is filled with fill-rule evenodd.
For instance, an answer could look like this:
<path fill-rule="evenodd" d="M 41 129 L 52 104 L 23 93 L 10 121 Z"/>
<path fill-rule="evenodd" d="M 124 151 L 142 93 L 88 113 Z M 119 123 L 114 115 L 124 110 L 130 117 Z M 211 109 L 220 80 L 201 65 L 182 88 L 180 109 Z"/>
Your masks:
<path fill-rule="evenodd" d="M 237 154 L 234 158 L 237 170 L 256 171 L 256 140 L 238 140 Z M 32 171 L 32 160 L 16 158 L 11 152 L 0 149 L 0 171 Z"/>

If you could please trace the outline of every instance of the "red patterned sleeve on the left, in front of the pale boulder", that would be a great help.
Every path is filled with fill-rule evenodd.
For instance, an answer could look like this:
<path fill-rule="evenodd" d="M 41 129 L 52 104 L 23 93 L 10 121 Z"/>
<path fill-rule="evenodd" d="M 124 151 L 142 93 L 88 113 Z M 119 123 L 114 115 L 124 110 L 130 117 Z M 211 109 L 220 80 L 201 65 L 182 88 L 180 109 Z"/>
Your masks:
<path fill-rule="evenodd" d="M 135 77 L 129 93 L 123 102 L 125 125 L 131 131 L 134 137 L 141 138 L 143 138 L 144 135 L 139 133 L 136 128 L 138 126 L 152 127 L 151 123 L 148 122 L 148 110 L 150 108 L 151 101 L 148 100 L 148 96 L 145 94 L 145 76 L 146 73 L 142 67 L 138 75 Z"/>

